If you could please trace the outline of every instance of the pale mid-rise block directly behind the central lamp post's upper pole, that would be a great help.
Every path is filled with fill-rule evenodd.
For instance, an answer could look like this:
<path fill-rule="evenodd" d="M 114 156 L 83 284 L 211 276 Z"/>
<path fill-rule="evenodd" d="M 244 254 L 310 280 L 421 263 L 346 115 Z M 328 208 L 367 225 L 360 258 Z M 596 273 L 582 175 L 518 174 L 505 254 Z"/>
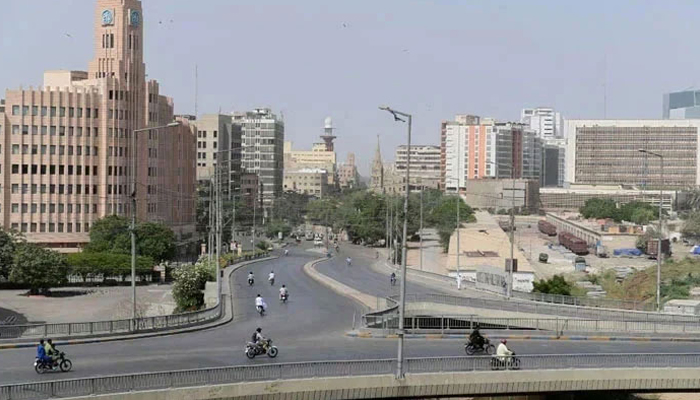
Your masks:
<path fill-rule="evenodd" d="M 408 151 L 406 145 L 396 148 L 396 172 L 406 175 Z M 411 145 L 411 190 L 415 187 L 437 189 L 440 187 L 440 146 Z"/>

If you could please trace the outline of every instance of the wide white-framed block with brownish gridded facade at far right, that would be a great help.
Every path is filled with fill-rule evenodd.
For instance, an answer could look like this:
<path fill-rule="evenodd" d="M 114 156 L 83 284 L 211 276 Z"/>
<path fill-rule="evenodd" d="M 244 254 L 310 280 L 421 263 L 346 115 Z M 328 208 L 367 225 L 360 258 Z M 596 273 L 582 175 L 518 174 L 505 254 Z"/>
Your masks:
<path fill-rule="evenodd" d="M 700 120 L 567 120 L 566 182 L 680 189 L 700 185 Z M 664 157 L 661 159 L 639 149 Z"/>

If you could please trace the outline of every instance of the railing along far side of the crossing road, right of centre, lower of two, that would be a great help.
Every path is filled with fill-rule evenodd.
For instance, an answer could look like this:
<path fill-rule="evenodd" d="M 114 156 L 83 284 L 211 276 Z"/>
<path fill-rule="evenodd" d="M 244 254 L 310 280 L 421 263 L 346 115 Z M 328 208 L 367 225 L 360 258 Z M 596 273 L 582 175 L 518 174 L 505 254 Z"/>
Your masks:
<path fill-rule="evenodd" d="M 366 328 L 398 329 L 398 315 L 366 316 Z M 482 330 L 534 330 L 574 333 L 696 334 L 700 322 L 667 323 L 656 321 L 606 321 L 569 318 L 490 318 L 478 315 L 409 316 L 404 318 L 407 333 L 468 333 L 476 325 Z"/>

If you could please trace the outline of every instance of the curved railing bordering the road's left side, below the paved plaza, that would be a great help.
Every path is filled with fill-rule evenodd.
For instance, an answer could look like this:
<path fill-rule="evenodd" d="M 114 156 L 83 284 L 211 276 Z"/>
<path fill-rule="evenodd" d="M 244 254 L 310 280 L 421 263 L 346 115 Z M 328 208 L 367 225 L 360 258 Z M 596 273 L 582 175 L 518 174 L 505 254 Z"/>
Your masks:
<path fill-rule="evenodd" d="M 245 262 L 267 257 L 267 253 L 246 255 L 236 259 Z M 235 265 L 235 264 L 233 264 Z M 223 315 L 224 297 L 219 304 L 206 310 L 113 321 L 67 322 L 58 324 L 0 325 L 0 339 L 40 337 L 86 337 L 93 335 L 131 334 L 186 328 L 216 321 Z"/>

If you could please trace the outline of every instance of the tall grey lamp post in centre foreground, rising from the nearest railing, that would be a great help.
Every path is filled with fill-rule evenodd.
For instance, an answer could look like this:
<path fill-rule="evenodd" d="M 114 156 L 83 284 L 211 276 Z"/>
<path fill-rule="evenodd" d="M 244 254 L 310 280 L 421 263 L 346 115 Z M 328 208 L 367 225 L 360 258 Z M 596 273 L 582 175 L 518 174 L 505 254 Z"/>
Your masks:
<path fill-rule="evenodd" d="M 408 142 L 406 147 L 406 197 L 403 203 L 403 237 L 401 238 L 401 288 L 399 303 L 399 348 L 396 360 L 396 378 L 403 379 L 403 337 L 404 337 L 404 309 L 406 306 L 406 235 L 408 234 L 408 196 L 411 192 L 411 121 L 413 117 L 401 111 L 393 110 L 387 106 L 379 107 L 380 110 L 387 111 L 394 116 L 394 121 L 408 122 Z M 403 119 L 404 117 L 406 119 Z"/>

